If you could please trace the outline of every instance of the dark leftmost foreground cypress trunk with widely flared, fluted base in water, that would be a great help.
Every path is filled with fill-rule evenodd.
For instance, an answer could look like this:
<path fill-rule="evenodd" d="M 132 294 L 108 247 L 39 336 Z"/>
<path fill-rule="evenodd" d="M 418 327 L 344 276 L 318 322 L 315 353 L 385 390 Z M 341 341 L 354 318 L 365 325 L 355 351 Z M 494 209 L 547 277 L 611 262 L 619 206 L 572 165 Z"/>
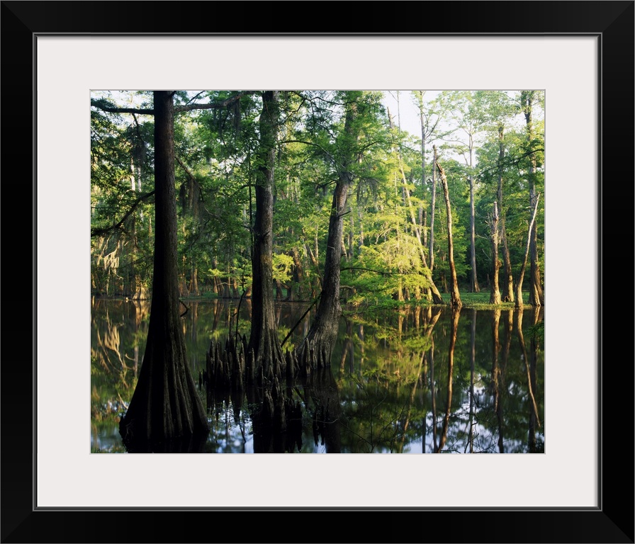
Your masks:
<path fill-rule="evenodd" d="M 130 451 L 165 450 L 169 441 L 209 431 L 187 363 L 179 317 L 172 91 L 154 91 L 154 186 L 150 324 L 139 380 L 119 424 Z"/>

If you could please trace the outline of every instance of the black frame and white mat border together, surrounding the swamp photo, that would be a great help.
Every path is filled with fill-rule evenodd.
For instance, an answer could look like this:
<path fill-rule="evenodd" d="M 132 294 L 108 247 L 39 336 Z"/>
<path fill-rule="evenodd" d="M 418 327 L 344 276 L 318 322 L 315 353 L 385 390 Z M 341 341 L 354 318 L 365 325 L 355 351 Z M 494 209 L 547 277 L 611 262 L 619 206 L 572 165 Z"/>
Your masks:
<path fill-rule="evenodd" d="M 33 357 L 4 358 L 2 542 L 633 543 L 632 327 L 603 315 L 605 242 L 633 232 L 634 4 L 374 2 L 352 31 L 361 4 L 3 1 L 5 201 L 33 203 L 4 237 L 5 293 L 28 248 L 33 301 L 5 324 Z M 544 453 L 91 455 L 91 90 L 255 88 L 544 91 Z"/>

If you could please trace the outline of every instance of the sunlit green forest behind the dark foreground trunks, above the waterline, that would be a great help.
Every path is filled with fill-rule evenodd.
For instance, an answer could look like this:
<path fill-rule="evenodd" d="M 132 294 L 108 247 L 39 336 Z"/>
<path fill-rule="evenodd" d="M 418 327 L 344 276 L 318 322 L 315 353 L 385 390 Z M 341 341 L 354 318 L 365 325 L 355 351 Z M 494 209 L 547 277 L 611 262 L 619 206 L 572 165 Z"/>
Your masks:
<path fill-rule="evenodd" d="M 379 91 L 280 91 L 274 296 L 312 302 L 320 295 L 333 193 L 345 161 L 342 302 L 440 303 L 434 291 L 450 293 L 451 260 L 461 291 L 488 290 L 490 302 L 513 302 L 528 249 L 522 287 L 530 304 L 544 304 L 544 93 L 399 96 L 419 108 L 420 134 L 400 130 L 398 112 L 387 110 Z M 351 101 L 359 107 L 354 137 L 347 138 Z M 176 91 L 174 106 L 179 294 L 248 297 L 262 94 Z M 152 91 L 91 96 L 94 295 L 150 297 L 154 117 L 144 109 L 152 111 Z"/>

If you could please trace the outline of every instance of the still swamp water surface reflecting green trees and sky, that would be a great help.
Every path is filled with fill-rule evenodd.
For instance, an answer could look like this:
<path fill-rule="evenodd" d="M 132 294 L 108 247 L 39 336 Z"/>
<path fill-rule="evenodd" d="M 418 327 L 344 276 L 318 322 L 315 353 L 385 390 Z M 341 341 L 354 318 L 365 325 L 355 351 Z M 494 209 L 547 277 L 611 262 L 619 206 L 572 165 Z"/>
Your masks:
<path fill-rule="evenodd" d="M 210 340 L 249 334 L 249 300 L 187 302 L 189 364 L 211 431 L 203 453 L 543 453 L 540 310 L 412 308 L 342 317 L 331 367 L 272 390 L 209 390 Z M 276 308 L 283 349 L 308 331 L 307 305 Z M 93 300 L 91 452 L 125 452 L 118 417 L 132 397 L 150 305 Z M 295 328 L 294 328 L 295 327 Z M 291 333 L 291 334 L 290 334 Z M 279 408 L 276 408 L 279 407 Z M 271 421 L 275 421 L 274 424 Z"/>

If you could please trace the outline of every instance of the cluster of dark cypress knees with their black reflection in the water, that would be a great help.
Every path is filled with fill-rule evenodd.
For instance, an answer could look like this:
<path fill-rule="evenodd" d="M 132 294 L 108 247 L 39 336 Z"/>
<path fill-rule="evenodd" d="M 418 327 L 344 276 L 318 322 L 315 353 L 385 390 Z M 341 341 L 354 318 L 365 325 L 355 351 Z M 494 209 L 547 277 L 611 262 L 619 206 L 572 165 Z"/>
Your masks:
<path fill-rule="evenodd" d="M 316 446 L 318 441 L 326 442 L 328 451 L 339 451 L 339 399 L 329 368 L 330 347 L 320 346 L 317 339 L 306 339 L 296 351 L 287 352 L 275 350 L 274 342 L 260 344 L 268 355 L 257 358 L 240 335 L 210 342 L 206 370 L 199 375 L 199 386 L 206 387 L 208 411 L 218 402 L 231 403 L 237 421 L 246 397 L 256 453 L 301 450 L 304 408 L 293 398 L 300 380 L 310 392 L 301 400 L 315 405 L 310 408 L 307 404 L 305 409 L 310 412 L 315 437 L 320 437 L 315 438 Z"/>

